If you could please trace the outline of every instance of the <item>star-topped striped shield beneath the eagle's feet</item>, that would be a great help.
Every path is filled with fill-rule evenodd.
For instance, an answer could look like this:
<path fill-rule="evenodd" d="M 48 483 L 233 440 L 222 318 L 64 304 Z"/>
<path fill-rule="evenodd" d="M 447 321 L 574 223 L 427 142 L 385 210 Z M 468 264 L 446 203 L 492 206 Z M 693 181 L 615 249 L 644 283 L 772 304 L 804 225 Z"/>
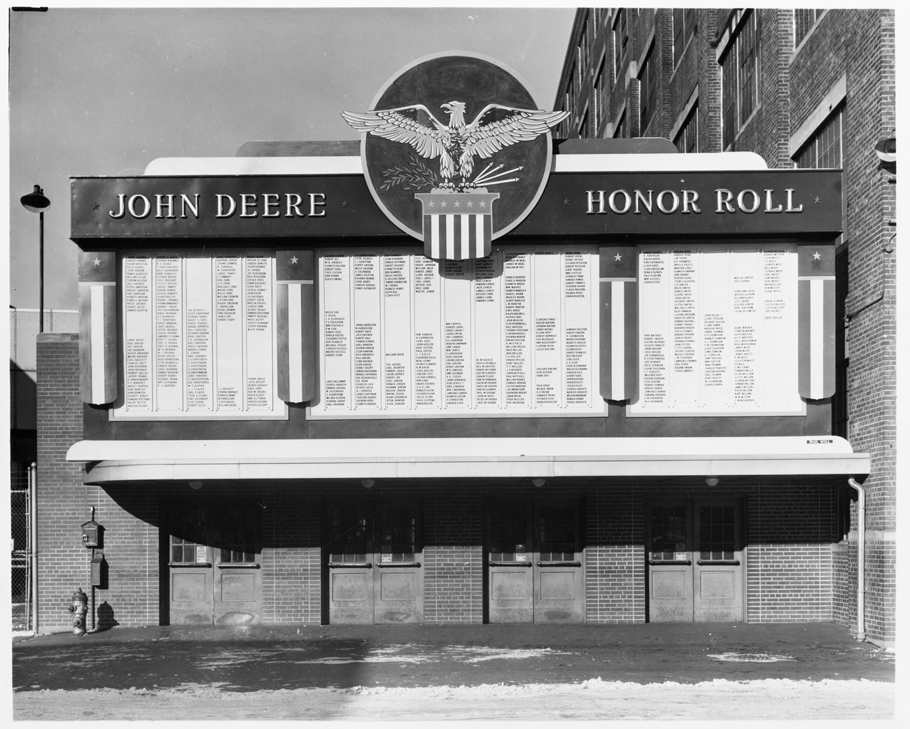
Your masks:
<path fill-rule="evenodd" d="M 464 261 L 490 255 L 493 201 L 499 193 L 420 193 L 423 255 Z"/>

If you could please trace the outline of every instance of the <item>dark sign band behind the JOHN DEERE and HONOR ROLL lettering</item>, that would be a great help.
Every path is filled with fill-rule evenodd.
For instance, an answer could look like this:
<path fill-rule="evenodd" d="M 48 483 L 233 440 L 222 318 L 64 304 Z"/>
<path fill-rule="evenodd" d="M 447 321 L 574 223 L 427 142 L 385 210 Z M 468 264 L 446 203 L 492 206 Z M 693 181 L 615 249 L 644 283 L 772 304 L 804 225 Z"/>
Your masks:
<path fill-rule="evenodd" d="M 553 173 L 541 199 L 511 233 L 501 239 L 508 245 L 525 235 L 551 236 L 552 243 L 573 235 L 836 235 L 841 230 L 841 173 L 837 170 L 763 170 L 754 172 L 615 172 Z M 506 185 L 503 185 L 503 187 Z M 763 194 L 774 190 L 775 202 L 785 205 L 786 188 L 794 189 L 794 205 L 802 213 L 714 212 L 715 190 L 734 192 L 752 189 Z M 658 212 L 649 215 L 587 215 L 587 191 L 616 189 L 696 190 L 698 215 Z M 495 190 L 496 188 L 491 188 Z M 216 195 L 255 194 L 262 213 L 261 195 L 288 193 L 325 195 L 319 217 L 248 217 L 238 213 L 217 218 Z M 157 239 L 157 238 L 320 238 L 319 245 L 331 245 L 339 238 L 343 245 L 375 245 L 379 238 L 403 237 L 376 205 L 362 175 L 263 175 L 211 177 L 76 177 L 72 180 L 72 237 Z M 154 204 L 155 195 L 198 194 L 199 217 L 139 220 L 126 215 L 112 218 L 119 208 L 117 195 L 145 195 Z M 283 199 L 283 197 L 282 197 Z M 499 205 L 497 201 L 496 205 Z M 415 201 L 416 203 L 416 201 Z M 420 204 L 418 204 L 420 205 Z M 302 205 L 306 210 L 308 205 Z M 362 237 L 352 241 L 350 237 Z M 258 242 L 261 245 L 261 241 Z"/>

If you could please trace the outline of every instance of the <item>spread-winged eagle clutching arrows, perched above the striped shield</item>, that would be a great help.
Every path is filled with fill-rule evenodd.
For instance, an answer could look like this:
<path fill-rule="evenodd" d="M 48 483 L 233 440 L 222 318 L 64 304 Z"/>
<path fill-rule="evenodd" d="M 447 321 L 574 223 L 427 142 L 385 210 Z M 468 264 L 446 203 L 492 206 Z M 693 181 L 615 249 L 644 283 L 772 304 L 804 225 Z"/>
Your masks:
<path fill-rule="evenodd" d="M 449 115 L 447 125 L 422 104 L 362 114 L 342 112 L 341 115 L 359 132 L 410 145 L 425 159 L 438 158 L 442 180 L 439 191 L 459 193 L 472 192 L 481 185 L 516 182 L 517 178 L 499 178 L 521 171 L 521 166 L 501 172 L 502 165 L 487 165 L 477 177 L 472 177 L 474 157 L 489 159 L 503 147 L 528 142 L 547 134 L 569 115 L 568 112 L 488 104 L 468 124 L 465 120 L 465 107 L 461 101 L 440 105 Z M 431 125 L 420 121 L 421 114 L 429 118 Z"/>

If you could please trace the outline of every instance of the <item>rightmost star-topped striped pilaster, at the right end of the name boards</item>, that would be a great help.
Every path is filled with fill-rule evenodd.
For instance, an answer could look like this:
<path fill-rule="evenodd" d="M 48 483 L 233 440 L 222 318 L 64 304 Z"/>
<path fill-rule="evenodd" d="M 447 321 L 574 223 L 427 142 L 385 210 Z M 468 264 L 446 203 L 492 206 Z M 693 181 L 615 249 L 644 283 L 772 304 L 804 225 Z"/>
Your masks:
<path fill-rule="evenodd" d="M 834 245 L 799 246 L 799 394 L 834 394 Z"/>

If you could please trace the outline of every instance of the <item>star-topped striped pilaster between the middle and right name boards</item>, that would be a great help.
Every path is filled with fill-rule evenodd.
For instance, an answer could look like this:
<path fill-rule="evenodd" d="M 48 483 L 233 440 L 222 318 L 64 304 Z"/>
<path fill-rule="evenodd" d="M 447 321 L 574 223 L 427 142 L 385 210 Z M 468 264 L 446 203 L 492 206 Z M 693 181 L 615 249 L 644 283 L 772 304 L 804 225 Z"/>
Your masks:
<path fill-rule="evenodd" d="M 601 248 L 601 396 L 638 399 L 638 280 L 635 246 Z"/>

